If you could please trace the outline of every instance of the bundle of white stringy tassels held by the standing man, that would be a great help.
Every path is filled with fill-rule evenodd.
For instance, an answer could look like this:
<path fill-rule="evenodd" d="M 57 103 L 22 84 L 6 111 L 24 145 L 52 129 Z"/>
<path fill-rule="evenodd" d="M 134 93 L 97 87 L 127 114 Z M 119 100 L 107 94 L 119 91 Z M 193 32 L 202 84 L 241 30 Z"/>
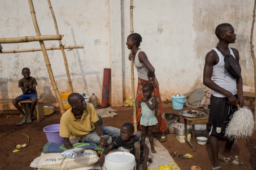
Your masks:
<path fill-rule="evenodd" d="M 227 125 L 225 135 L 229 139 L 250 137 L 254 131 L 254 120 L 251 110 L 244 106 L 238 108 Z"/>

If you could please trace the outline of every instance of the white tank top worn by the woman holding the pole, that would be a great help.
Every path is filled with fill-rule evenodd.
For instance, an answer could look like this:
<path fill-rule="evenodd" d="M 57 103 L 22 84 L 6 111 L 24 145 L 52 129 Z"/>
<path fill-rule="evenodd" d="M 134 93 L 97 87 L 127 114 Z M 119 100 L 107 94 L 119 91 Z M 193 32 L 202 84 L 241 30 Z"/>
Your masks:
<path fill-rule="evenodd" d="M 140 62 L 139 60 L 139 53 L 142 52 L 141 49 L 139 49 L 135 55 L 135 59 L 134 59 L 134 65 L 137 68 L 137 72 L 138 72 L 138 77 L 143 79 L 143 80 L 147 80 L 147 69 L 145 67 L 145 65 L 143 63 Z M 148 59 L 147 59 L 148 60 Z"/>

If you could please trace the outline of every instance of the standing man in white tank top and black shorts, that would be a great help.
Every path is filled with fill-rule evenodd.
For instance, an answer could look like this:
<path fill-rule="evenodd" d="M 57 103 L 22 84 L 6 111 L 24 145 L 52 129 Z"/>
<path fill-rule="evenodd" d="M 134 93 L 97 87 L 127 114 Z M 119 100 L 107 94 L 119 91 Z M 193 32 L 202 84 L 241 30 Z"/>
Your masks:
<path fill-rule="evenodd" d="M 212 89 L 209 113 L 209 135 L 212 158 L 214 159 L 211 169 L 221 170 L 220 163 L 242 165 L 243 163 L 230 156 L 230 149 L 234 140 L 226 138 L 225 130 L 229 123 L 229 117 L 237 109 L 236 105 L 244 106 L 243 79 L 234 79 L 225 68 L 224 57 L 220 51 L 232 55 L 239 62 L 239 52 L 230 48 L 229 43 L 236 41 L 236 34 L 229 23 L 217 26 L 215 34 L 219 39 L 216 48 L 213 48 L 205 57 L 203 83 Z M 217 48 L 220 50 L 217 50 Z M 225 139 L 226 144 L 218 159 L 219 139 Z"/>

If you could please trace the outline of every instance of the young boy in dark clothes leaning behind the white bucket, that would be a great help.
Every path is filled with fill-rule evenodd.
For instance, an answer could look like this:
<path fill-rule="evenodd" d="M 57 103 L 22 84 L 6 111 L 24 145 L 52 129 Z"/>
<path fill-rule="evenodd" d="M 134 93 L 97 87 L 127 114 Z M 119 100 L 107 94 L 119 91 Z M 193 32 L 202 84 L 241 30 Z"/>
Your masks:
<path fill-rule="evenodd" d="M 128 150 L 135 156 L 136 169 L 139 169 L 139 164 L 143 162 L 142 170 L 147 169 L 147 158 L 150 149 L 138 136 L 134 135 L 134 127 L 131 123 L 125 123 L 121 127 L 120 136 L 118 136 L 111 145 L 106 148 L 99 158 L 100 166 L 103 166 L 105 161 L 105 154 L 109 153 L 112 149 L 122 147 Z"/>

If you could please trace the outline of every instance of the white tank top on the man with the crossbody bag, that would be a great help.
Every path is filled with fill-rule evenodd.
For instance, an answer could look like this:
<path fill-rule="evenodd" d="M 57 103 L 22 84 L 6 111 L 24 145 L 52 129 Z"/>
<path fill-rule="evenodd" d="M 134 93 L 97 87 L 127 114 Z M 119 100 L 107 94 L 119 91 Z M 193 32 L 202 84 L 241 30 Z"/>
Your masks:
<path fill-rule="evenodd" d="M 233 51 L 230 47 L 229 51 L 232 56 L 234 56 Z M 236 79 L 234 79 L 229 72 L 225 69 L 225 62 L 224 62 L 224 56 L 217 50 L 217 48 L 213 48 L 212 50 L 216 51 L 216 53 L 219 56 L 219 63 L 214 65 L 214 69 L 212 70 L 212 80 L 219 85 L 221 88 L 224 88 L 228 91 L 230 91 L 233 95 L 237 94 L 237 82 Z M 211 94 L 218 97 L 218 98 L 226 98 L 226 95 L 214 91 L 211 91 Z"/>

